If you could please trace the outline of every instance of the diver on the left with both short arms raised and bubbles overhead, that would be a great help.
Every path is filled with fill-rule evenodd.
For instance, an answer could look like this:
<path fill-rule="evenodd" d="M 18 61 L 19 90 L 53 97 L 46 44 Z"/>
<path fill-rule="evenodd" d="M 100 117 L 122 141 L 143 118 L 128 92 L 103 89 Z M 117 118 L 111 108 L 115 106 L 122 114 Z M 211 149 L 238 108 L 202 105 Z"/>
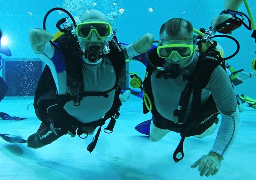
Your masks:
<path fill-rule="evenodd" d="M 47 64 L 34 100 L 42 123 L 27 140 L 30 148 L 41 148 L 64 134 L 87 137 L 99 127 L 87 147 L 92 152 L 101 126 L 110 118 L 104 131 L 111 133 L 119 117 L 119 79 L 125 59 L 152 47 L 152 34 L 145 34 L 128 46 L 119 44 L 106 16 L 98 10 L 89 10 L 80 20 L 75 35 L 67 30 L 66 35 L 54 40 L 54 46 L 48 42 L 54 37 L 50 32 L 29 31 L 32 50 Z"/>

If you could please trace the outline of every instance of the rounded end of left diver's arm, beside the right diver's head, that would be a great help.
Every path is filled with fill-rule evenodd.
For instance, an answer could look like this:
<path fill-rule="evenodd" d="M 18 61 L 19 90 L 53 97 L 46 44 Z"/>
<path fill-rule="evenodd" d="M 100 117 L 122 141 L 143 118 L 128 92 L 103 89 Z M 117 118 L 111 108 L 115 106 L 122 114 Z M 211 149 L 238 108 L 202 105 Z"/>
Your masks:
<path fill-rule="evenodd" d="M 154 35 L 153 34 L 145 34 L 139 40 L 137 40 L 135 43 L 133 43 L 133 49 L 137 53 L 144 53 L 147 52 L 149 49 L 151 49 L 154 41 Z"/>

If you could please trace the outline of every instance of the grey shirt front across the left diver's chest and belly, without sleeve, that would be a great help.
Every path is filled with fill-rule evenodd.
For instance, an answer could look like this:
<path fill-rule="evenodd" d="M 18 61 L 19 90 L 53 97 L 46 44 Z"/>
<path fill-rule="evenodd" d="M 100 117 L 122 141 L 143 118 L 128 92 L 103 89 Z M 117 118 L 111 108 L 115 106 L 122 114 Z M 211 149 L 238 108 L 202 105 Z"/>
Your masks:
<path fill-rule="evenodd" d="M 108 58 L 102 59 L 98 64 L 83 63 L 83 80 L 85 92 L 103 92 L 110 90 L 116 83 L 116 74 Z M 63 80 L 62 82 L 66 82 Z M 66 86 L 66 83 L 63 83 Z M 107 93 L 109 96 L 86 96 L 81 100 L 80 106 L 74 102 L 67 102 L 64 109 L 81 122 L 99 120 L 111 108 L 114 101 L 115 89 Z"/>

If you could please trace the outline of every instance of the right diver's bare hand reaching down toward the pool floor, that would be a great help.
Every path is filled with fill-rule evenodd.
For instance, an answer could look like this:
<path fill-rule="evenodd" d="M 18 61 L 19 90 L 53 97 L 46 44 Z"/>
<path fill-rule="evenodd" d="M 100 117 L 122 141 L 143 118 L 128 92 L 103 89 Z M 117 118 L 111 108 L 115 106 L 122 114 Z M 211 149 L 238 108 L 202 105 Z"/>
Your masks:
<path fill-rule="evenodd" d="M 198 170 L 201 172 L 200 176 L 210 176 L 215 175 L 220 170 L 220 162 L 223 160 L 223 158 L 218 155 L 215 152 L 210 152 L 209 155 L 202 156 L 202 158 L 198 159 L 193 165 L 191 165 L 191 168 L 195 168 L 197 166 Z"/>

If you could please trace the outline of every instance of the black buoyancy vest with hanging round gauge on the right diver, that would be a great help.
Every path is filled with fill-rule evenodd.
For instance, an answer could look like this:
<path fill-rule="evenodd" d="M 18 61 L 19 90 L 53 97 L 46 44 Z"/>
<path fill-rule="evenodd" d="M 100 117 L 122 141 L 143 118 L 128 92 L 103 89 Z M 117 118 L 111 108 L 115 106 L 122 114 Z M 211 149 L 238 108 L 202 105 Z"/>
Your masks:
<path fill-rule="evenodd" d="M 158 56 L 157 48 L 153 49 L 148 57 L 155 66 L 163 66 L 164 59 Z M 153 120 L 155 119 L 154 124 L 158 128 L 169 129 L 180 133 L 182 137 L 181 142 L 173 154 L 175 162 L 180 161 L 184 157 L 183 142 L 185 137 L 202 134 L 205 130 L 211 127 L 219 114 L 212 96 L 209 96 L 206 104 L 203 106 L 201 104 L 201 94 L 202 89 L 208 84 L 212 72 L 218 65 L 221 65 L 226 71 L 226 68 L 221 62 L 222 58 L 218 55 L 218 52 L 215 49 L 212 49 L 208 53 L 200 52 L 193 73 L 189 77 L 183 77 L 188 80 L 188 83 L 181 93 L 178 108 L 173 112 L 173 115 L 178 117 L 177 123 L 167 120 L 157 111 L 154 105 L 154 97 L 151 87 L 151 76 L 154 68 L 147 66 L 146 71 L 148 72 L 148 76 L 143 81 L 143 90 L 148 94 L 152 103 L 151 112 L 155 117 L 153 118 Z M 167 79 L 163 71 L 158 71 L 157 78 L 161 76 Z M 192 109 L 188 111 L 188 103 L 190 102 L 192 93 Z M 143 113 L 146 114 L 148 112 L 149 110 L 146 108 L 145 99 L 143 99 Z M 189 116 L 187 116 L 188 113 Z"/>

